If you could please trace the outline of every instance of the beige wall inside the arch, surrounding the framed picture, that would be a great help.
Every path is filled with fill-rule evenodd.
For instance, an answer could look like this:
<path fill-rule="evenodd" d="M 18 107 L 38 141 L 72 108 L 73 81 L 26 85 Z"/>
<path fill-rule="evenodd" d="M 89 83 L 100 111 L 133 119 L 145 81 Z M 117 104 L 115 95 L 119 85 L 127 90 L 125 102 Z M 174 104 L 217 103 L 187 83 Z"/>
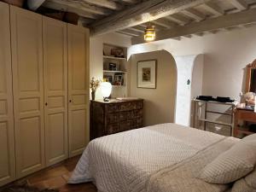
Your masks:
<path fill-rule="evenodd" d="M 157 60 L 156 89 L 137 88 L 137 61 Z M 165 50 L 131 55 L 130 95 L 144 99 L 144 125 L 174 121 L 177 69 L 171 54 Z"/>

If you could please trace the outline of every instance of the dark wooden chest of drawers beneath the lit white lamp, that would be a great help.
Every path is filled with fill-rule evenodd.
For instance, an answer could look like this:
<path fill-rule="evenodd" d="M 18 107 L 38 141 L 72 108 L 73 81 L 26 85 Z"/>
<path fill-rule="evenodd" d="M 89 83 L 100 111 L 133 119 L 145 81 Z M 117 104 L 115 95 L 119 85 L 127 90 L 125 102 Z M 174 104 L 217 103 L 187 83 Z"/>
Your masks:
<path fill-rule="evenodd" d="M 143 127 L 143 100 L 90 102 L 90 139 Z"/>

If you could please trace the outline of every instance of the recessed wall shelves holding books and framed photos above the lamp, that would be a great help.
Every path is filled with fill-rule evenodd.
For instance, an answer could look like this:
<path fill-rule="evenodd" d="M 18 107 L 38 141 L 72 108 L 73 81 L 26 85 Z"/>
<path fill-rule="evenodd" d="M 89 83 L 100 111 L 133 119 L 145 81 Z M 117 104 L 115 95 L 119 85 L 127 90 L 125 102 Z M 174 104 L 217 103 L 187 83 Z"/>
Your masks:
<path fill-rule="evenodd" d="M 123 57 L 113 55 L 113 49 L 120 49 Z M 111 97 L 127 96 L 127 48 L 103 44 L 103 79 L 113 85 Z M 113 68 L 111 68 L 113 67 Z"/>

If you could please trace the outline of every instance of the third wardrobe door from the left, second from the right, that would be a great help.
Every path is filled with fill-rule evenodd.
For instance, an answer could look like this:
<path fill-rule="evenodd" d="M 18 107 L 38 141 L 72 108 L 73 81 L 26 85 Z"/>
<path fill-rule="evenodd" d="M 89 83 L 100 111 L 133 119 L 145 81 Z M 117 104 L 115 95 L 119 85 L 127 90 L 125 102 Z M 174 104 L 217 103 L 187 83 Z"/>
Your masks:
<path fill-rule="evenodd" d="M 67 23 L 43 17 L 45 157 L 50 166 L 68 157 Z"/>

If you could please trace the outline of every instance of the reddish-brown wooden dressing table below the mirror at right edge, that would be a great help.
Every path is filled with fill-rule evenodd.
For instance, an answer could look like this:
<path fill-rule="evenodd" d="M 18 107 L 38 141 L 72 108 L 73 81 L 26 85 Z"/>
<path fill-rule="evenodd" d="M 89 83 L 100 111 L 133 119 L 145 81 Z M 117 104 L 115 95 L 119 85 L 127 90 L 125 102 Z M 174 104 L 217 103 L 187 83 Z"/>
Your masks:
<path fill-rule="evenodd" d="M 243 122 L 240 122 L 243 121 Z M 235 127 L 234 137 L 238 137 L 239 134 L 250 135 L 255 132 L 249 131 L 247 123 L 256 123 L 256 113 L 253 110 L 247 110 L 245 108 L 236 108 L 235 111 Z M 240 125 L 240 123 L 242 123 Z"/>

